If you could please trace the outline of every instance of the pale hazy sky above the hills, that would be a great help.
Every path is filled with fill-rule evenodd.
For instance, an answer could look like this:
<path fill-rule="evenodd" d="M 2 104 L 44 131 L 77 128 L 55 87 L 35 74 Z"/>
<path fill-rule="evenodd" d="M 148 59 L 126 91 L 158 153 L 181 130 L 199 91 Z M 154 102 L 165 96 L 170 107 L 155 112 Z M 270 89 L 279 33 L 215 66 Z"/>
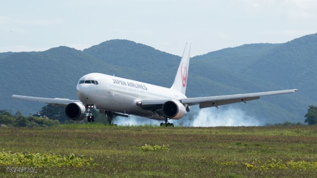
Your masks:
<path fill-rule="evenodd" d="M 181 55 L 317 33 L 317 0 L 2 0 L 0 52 L 127 39 Z"/>

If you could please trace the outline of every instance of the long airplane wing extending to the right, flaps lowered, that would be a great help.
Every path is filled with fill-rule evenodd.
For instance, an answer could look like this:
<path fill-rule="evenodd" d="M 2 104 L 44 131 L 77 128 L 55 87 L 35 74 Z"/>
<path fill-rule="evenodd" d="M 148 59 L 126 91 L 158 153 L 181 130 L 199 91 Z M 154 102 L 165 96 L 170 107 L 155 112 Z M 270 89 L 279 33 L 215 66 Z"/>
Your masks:
<path fill-rule="evenodd" d="M 231 104 L 231 103 L 237 103 L 237 102 L 247 102 L 247 101 L 251 101 L 255 99 L 260 99 L 261 96 L 293 93 L 295 91 L 297 91 L 297 89 L 222 95 L 222 96 L 210 96 L 210 97 L 193 97 L 193 98 L 184 98 L 184 99 L 175 99 L 175 100 L 178 100 L 182 104 L 188 104 L 188 105 L 199 104 L 199 108 L 206 108 L 206 107 L 212 107 L 212 106 L 218 107 L 219 105 Z M 141 100 L 142 102 L 141 107 L 144 109 L 159 108 L 158 105 L 161 105 L 166 101 L 168 100 L 166 99 Z"/>

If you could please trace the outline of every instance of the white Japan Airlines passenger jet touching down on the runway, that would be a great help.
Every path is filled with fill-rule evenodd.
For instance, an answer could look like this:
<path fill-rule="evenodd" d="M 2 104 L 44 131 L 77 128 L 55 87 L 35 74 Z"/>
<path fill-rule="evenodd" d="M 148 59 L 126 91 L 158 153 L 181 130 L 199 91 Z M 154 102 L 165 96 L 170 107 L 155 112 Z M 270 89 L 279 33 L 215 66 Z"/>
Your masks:
<path fill-rule="evenodd" d="M 93 109 L 99 109 L 106 115 L 111 125 L 116 116 L 129 115 L 164 121 L 160 126 L 174 126 L 169 120 L 183 118 L 190 106 L 199 108 L 216 107 L 225 104 L 247 102 L 260 99 L 261 96 L 293 93 L 297 89 L 266 91 L 246 94 L 233 94 L 208 97 L 187 98 L 186 86 L 190 60 L 190 42 L 187 42 L 171 88 L 164 88 L 143 82 L 133 81 L 101 73 L 90 73 L 78 81 L 79 100 L 64 98 L 42 98 L 12 95 L 12 98 L 44 102 L 56 106 L 65 106 L 65 115 L 74 121 L 94 122 Z"/>

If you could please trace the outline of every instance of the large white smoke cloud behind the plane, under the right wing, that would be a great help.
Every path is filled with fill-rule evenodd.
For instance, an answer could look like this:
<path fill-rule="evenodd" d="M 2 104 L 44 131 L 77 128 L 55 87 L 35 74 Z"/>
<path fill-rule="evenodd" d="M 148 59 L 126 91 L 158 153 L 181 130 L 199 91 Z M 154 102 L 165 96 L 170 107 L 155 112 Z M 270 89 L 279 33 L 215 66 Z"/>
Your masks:
<path fill-rule="evenodd" d="M 260 126 L 257 119 L 247 116 L 239 109 L 201 109 L 193 121 L 194 127 Z"/>

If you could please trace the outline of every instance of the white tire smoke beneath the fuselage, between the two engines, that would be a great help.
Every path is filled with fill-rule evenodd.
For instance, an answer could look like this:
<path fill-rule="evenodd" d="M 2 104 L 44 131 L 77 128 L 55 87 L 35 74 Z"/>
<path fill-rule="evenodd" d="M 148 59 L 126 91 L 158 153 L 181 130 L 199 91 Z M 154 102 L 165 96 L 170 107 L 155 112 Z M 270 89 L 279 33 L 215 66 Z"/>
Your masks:
<path fill-rule="evenodd" d="M 118 126 L 139 126 L 139 125 L 159 126 L 159 121 L 147 119 L 147 118 L 129 116 L 127 118 L 115 117 L 115 119 L 113 119 L 113 124 L 116 124 Z"/>

